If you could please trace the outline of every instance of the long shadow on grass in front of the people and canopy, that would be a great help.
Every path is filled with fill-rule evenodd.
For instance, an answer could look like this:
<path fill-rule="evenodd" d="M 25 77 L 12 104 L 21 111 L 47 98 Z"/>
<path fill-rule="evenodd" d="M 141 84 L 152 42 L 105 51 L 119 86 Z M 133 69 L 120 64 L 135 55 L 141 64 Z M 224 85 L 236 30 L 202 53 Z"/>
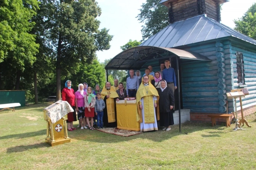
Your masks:
<path fill-rule="evenodd" d="M 74 125 L 75 126 L 75 125 Z M 162 142 L 164 140 L 168 140 L 172 137 L 179 136 L 179 135 L 189 135 L 196 131 L 201 130 L 218 130 L 218 132 L 214 132 L 210 135 L 204 135 L 202 137 L 218 137 L 219 133 L 224 133 L 224 126 L 217 125 L 212 127 L 211 123 L 194 123 L 194 122 L 188 122 L 183 123 L 181 125 L 181 133 L 179 132 L 179 125 L 171 126 L 170 131 L 164 131 L 161 130 L 158 131 L 149 131 L 149 132 L 143 132 L 138 135 L 133 136 L 118 136 L 114 134 L 108 134 L 105 132 L 97 131 L 97 130 L 75 130 L 73 132 L 69 132 L 69 137 L 74 140 L 83 140 L 83 141 L 90 141 L 90 142 L 96 142 L 96 143 L 118 143 L 118 142 L 127 142 L 130 140 L 136 140 L 136 139 L 148 139 L 154 142 Z"/>

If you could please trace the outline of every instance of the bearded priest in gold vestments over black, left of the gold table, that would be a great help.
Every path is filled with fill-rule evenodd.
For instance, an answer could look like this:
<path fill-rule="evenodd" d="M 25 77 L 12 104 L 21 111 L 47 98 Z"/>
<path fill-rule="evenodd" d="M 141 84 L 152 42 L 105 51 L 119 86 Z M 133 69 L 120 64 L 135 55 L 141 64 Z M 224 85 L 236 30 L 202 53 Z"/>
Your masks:
<path fill-rule="evenodd" d="M 119 101 L 117 92 L 107 82 L 105 88 L 101 91 L 101 98 L 104 100 L 106 107 L 103 109 L 103 125 L 108 127 L 116 127 L 116 100 Z"/>

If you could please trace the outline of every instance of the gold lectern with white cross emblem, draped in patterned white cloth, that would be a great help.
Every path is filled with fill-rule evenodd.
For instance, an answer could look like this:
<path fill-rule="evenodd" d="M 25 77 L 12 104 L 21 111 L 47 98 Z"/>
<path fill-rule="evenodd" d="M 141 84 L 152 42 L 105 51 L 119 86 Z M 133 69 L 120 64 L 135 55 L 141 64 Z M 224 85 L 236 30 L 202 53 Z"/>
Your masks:
<path fill-rule="evenodd" d="M 74 112 L 66 101 L 58 101 L 43 109 L 44 120 L 47 121 L 46 143 L 50 146 L 70 142 L 68 129 L 66 127 L 67 114 Z"/>

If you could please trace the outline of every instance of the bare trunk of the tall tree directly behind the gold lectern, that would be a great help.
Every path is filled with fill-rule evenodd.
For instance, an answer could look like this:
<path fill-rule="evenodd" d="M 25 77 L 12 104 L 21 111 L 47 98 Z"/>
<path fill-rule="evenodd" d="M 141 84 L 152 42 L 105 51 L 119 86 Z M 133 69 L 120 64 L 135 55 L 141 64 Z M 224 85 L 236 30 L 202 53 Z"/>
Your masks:
<path fill-rule="evenodd" d="M 60 85 L 60 57 L 61 57 L 61 49 L 62 49 L 62 34 L 59 33 L 59 40 L 58 40 L 58 51 L 57 51 L 57 62 L 56 62 L 56 101 L 61 100 L 61 85 Z"/>

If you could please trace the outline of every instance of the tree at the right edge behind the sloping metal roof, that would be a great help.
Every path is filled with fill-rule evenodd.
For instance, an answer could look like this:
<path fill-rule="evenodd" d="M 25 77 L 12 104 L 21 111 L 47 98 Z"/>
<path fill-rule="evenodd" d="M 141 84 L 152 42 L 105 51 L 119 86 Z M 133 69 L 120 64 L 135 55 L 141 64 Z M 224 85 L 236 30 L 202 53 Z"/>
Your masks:
<path fill-rule="evenodd" d="M 256 3 L 238 20 L 234 20 L 235 30 L 256 39 Z"/>

